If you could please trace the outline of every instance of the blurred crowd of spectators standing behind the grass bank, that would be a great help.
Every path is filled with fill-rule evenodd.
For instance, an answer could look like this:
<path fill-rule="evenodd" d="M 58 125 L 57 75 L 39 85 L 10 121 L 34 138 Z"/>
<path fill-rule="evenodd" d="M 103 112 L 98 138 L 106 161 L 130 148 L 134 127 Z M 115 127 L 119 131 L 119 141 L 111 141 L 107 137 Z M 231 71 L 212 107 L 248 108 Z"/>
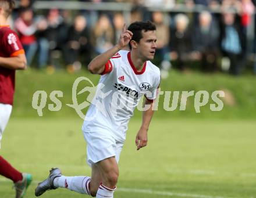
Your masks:
<path fill-rule="evenodd" d="M 111 1 L 131 3 L 130 19 L 122 10 L 59 10 L 51 8 L 51 1 L 51 9 L 37 10 L 34 2 L 19 1 L 10 23 L 19 34 L 28 65 L 38 69 L 54 71 L 65 65 L 70 73 L 80 70 L 116 44 L 125 22 L 151 20 L 158 37 L 154 63 L 163 77 L 171 67 L 233 75 L 249 69 L 256 74 L 256 0 Z"/>

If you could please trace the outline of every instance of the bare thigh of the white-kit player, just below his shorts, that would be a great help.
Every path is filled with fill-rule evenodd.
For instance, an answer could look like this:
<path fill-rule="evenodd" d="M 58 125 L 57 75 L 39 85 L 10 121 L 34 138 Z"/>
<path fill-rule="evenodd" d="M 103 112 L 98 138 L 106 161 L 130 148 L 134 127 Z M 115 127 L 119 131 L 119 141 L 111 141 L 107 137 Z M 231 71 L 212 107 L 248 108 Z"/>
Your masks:
<path fill-rule="evenodd" d="M 97 166 L 101 170 L 102 179 L 117 179 L 119 176 L 118 163 L 115 157 L 109 157 L 101 160 L 97 163 Z"/>

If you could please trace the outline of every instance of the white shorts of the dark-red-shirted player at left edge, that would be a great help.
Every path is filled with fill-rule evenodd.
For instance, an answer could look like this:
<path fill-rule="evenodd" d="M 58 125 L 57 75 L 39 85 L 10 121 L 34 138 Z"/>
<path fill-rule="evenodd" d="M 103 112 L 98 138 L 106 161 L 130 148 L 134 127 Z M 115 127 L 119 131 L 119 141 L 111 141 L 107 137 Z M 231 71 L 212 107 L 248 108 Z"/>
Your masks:
<path fill-rule="evenodd" d="M 12 105 L 0 103 L 0 149 L 3 131 L 9 121 L 10 113 L 12 113 Z"/>

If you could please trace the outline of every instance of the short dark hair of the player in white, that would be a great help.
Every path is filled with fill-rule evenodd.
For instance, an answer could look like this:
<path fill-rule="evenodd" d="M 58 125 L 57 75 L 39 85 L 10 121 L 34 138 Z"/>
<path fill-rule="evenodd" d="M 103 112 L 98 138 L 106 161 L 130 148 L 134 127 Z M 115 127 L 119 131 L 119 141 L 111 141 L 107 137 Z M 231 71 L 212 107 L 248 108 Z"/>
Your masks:
<path fill-rule="evenodd" d="M 154 31 L 157 28 L 151 21 L 136 21 L 134 23 L 131 23 L 128 27 L 128 30 L 130 30 L 133 33 L 133 37 L 131 40 L 140 42 L 140 39 L 142 38 L 142 30 L 146 31 Z M 129 43 L 129 47 L 131 49 L 131 44 Z"/>

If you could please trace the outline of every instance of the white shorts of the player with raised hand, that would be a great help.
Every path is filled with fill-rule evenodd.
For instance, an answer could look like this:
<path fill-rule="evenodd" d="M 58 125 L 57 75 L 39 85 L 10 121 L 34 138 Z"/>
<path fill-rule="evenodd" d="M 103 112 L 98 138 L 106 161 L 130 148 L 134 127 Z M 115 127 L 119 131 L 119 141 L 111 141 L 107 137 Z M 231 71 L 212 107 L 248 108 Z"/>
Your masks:
<path fill-rule="evenodd" d="M 90 167 L 91 164 L 113 156 L 119 161 L 124 142 L 113 138 L 111 132 L 102 129 L 97 132 L 83 131 L 83 134 L 87 142 L 87 163 Z"/>

